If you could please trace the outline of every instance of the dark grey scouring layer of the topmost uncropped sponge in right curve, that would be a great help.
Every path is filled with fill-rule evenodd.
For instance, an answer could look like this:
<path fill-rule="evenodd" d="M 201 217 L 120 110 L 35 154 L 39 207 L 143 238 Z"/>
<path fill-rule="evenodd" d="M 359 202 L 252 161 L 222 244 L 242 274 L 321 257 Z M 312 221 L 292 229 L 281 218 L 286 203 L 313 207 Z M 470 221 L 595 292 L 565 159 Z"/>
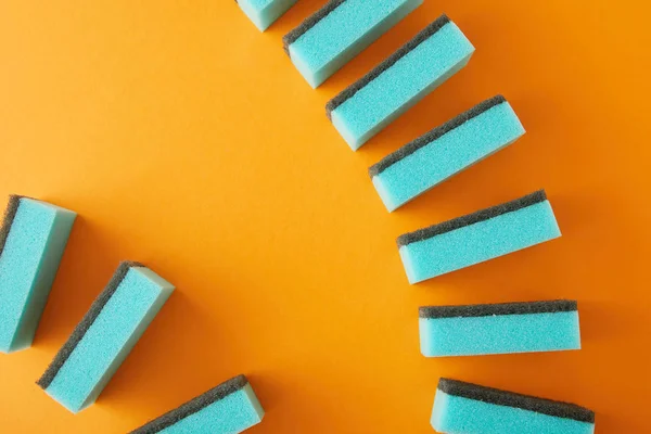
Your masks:
<path fill-rule="evenodd" d="M 386 58 L 385 61 L 383 61 L 381 64 L 371 69 L 367 75 L 361 77 L 353 85 L 348 86 L 340 94 L 330 100 L 330 102 L 326 104 L 326 115 L 328 116 L 328 118 L 331 119 L 332 112 L 336 107 L 339 107 L 344 102 L 353 98 L 355 93 L 363 89 L 365 86 L 378 78 L 382 73 L 392 67 L 397 61 L 399 61 L 411 50 L 417 48 L 421 42 L 424 42 L 427 38 L 430 38 L 449 22 L 450 18 L 448 18 L 447 15 L 441 15 L 432 24 L 430 24 L 427 27 L 421 30 L 413 39 L 404 44 L 403 48 L 393 53 L 391 56 Z"/>

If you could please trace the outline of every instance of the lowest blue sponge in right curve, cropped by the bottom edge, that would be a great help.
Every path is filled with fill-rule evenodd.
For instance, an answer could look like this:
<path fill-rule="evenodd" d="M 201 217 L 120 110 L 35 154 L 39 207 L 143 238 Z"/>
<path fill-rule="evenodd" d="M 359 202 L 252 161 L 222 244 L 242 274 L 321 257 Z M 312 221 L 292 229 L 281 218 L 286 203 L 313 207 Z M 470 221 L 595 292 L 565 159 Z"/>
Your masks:
<path fill-rule="evenodd" d="M 595 413 L 574 404 L 441 379 L 431 423 L 447 434 L 592 434 Z"/>

